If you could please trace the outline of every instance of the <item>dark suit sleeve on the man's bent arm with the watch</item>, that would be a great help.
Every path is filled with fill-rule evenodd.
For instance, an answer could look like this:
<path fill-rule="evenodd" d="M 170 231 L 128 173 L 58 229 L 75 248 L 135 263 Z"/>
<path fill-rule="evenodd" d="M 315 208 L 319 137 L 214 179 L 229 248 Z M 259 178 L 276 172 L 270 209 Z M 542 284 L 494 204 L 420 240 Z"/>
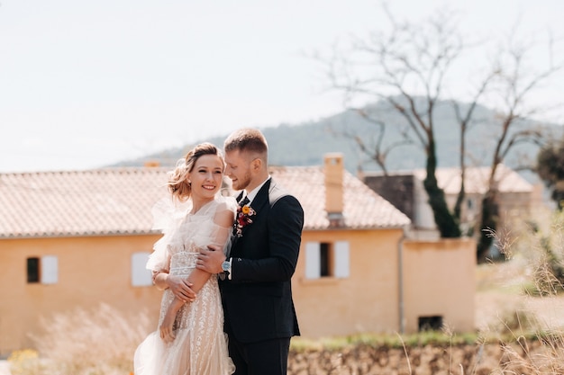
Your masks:
<path fill-rule="evenodd" d="M 266 257 L 254 260 L 234 258 L 233 281 L 289 281 L 296 271 L 304 228 L 304 210 L 296 197 L 280 198 L 268 212 L 267 226 Z"/>

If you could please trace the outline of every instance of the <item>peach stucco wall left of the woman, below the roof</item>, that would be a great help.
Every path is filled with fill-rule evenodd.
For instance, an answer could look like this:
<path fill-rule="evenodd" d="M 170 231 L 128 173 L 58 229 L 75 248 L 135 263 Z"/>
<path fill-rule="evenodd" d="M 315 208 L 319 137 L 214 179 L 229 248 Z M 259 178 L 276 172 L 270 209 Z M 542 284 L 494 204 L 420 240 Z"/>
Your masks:
<path fill-rule="evenodd" d="M 108 304 L 158 317 L 161 292 L 132 287 L 132 254 L 150 252 L 159 236 L 10 239 L 0 242 L 0 355 L 32 347 L 39 319 Z M 26 259 L 55 255 L 59 281 L 28 283 Z M 156 325 L 156 321 L 155 321 Z"/>

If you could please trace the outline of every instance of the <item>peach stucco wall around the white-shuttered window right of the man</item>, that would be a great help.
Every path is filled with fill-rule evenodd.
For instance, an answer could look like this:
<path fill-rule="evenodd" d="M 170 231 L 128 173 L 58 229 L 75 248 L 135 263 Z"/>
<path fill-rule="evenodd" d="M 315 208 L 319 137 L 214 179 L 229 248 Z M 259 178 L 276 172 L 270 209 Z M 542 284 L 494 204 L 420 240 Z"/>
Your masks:
<path fill-rule="evenodd" d="M 400 229 L 311 231 L 293 279 L 302 335 L 318 338 L 359 332 L 394 332 L 399 326 L 398 241 Z M 350 242 L 350 277 L 305 278 L 308 241 Z"/>

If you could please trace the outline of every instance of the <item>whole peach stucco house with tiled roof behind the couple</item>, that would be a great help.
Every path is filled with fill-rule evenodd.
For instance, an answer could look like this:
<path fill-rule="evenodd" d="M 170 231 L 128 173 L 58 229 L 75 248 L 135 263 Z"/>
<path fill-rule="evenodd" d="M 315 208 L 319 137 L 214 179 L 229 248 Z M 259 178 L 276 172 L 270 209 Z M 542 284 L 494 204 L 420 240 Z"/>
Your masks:
<path fill-rule="evenodd" d="M 271 175 L 305 211 L 292 281 L 302 335 L 474 329 L 471 241 L 406 239 L 410 219 L 341 154 Z M 161 292 L 145 262 L 166 179 L 159 167 L 0 174 L 0 355 L 32 347 L 41 317 L 74 308 L 104 303 L 156 324 Z"/>

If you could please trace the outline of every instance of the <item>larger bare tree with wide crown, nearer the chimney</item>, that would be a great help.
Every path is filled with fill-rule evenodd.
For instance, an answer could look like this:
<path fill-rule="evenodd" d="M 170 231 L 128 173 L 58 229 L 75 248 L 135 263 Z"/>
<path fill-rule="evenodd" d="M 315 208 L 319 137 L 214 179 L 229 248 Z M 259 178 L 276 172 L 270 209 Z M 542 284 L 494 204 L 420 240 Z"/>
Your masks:
<path fill-rule="evenodd" d="M 450 212 L 435 175 L 433 121 L 445 76 L 465 46 L 450 12 L 436 13 L 428 22 L 415 24 L 396 22 L 386 6 L 384 9 L 392 25 L 388 34 L 375 32 L 366 40 L 353 38 L 349 50 L 337 50 L 330 59 L 318 59 L 327 67 L 332 88 L 345 94 L 347 107 L 354 108 L 359 99 L 376 99 L 388 103 L 404 119 L 413 142 L 426 156 L 423 185 L 441 237 L 459 237 L 458 220 Z M 375 122 L 383 134 L 382 128 L 389 124 Z M 359 147 L 365 147 L 360 141 L 357 139 Z M 411 142 L 405 139 L 390 147 Z M 383 156 L 389 150 L 377 143 L 373 158 L 379 165 L 385 162 Z"/>

